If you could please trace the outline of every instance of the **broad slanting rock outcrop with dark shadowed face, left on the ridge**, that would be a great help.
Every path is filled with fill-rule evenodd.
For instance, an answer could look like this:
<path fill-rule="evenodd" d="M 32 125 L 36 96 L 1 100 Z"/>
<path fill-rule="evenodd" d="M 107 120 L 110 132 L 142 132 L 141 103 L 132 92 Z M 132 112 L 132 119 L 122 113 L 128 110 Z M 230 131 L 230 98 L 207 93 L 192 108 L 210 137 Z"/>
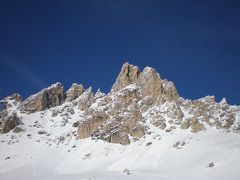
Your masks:
<path fill-rule="evenodd" d="M 61 105 L 64 99 L 63 86 L 61 83 L 56 83 L 27 98 L 21 103 L 20 110 L 28 113 L 43 111 Z"/>

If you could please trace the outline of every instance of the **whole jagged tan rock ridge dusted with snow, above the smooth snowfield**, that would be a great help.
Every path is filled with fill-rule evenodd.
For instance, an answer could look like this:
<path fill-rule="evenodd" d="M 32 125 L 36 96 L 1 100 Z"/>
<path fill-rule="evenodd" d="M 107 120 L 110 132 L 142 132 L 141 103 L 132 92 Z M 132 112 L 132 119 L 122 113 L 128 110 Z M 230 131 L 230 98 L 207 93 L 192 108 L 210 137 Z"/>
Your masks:
<path fill-rule="evenodd" d="M 240 130 L 238 106 L 230 106 L 225 100 L 218 103 L 213 96 L 185 100 L 173 82 L 161 79 L 155 69 L 146 67 L 141 72 L 129 63 L 122 66 L 108 94 L 94 94 L 92 88 L 85 90 L 77 84 L 64 93 L 63 86 L 56 83 L 22 102 L 15 94 L 1 104 L 1 129 L 9 124 L 2 133 L 20 124 L 18 116 L 41 111 L 52 112 L 45 121 L 61 117 L 61 126 L 74 119 L 72 129 L 77 139 L 123 145 L 153 134 L 155 128 L 163 133 L 176 129 L 198 133 L 209 127 L 236 133 Z"/>

